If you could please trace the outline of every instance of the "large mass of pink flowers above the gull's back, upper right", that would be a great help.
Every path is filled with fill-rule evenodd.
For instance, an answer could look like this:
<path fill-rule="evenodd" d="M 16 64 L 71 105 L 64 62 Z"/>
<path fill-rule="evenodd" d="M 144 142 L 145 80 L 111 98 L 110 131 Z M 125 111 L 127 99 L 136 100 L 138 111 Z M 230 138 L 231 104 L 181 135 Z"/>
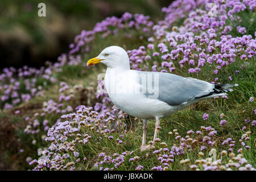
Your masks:
<path fill-rule="evenodd" d="M 152 27 L 155 36 L 148 38 L 150 43 L 147 47 L 141 46 L 127 51 L 131 68 L 139 71 L 174 72 L 179 65 L 181 68 L 187 68 L 188 73 L 199 73 L 205 64 L 210 64 L 216 67 L 213 74 L 218 75 L 220 69 L 226 68 L 236 59 L 252 59 L 255 56 L 255 39 L 251 35 L 237 38 L 228 35 L 231 28 L 227 19 L 231 15 L 239 19 L 236 13 L 245 10 L 247 6 L 250 10 L 254 3 L 243 4 L 238 1 L 229 1 L 227 5 L 217 1 L 214 3 L 218 10 L 217 16 L 208 14 L 207 1 L 175 1 L 168 8 L 164 8 L 163 12 L 167 13 L 166 19 Z M 237 9 L 237 3 L 243 8 Z M 205 5 L 206 10 L 196 9 L 202 4 Z M 180 14 L 185 14 L 184 12 L 188 10 L 189 15 L 184 20 L 183 26 L 174 27 L 170 31 L 169 28 L 177 17 L 180 18 Z M 238 29 L 238 32 L 245 33 L 243 27 Z M 217 35 L 220 31 L 222 35 L 219 39 Z M 232 80 L 231 76 L 230 79 Z M 212 84 L 217 80 L 218 78 L 212 81 Z"/>

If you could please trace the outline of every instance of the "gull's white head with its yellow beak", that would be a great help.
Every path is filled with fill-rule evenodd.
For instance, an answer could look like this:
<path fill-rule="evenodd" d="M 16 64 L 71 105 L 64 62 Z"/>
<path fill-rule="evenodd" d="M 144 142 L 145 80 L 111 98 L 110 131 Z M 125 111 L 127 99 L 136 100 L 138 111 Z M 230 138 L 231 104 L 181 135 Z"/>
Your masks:
<path fill-rule="evenodd" d="M 127 52 L 122 47 L 110 46 L 101 51 L 100 55 L 90 59 L 88 65 L 103 63 L 108 68 L 130 69 L 130 61 Z"/>

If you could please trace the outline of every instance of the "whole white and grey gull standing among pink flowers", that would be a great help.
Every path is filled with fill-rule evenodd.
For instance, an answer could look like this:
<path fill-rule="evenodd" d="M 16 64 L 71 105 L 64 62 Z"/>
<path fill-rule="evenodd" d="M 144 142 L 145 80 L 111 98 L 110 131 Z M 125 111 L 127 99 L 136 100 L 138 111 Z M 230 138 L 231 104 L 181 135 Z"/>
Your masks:
<path fill-rule="evenodd" d="M 127 52 L 118 46 L 105 48 L 100 55 L 90 59 L 87 66 L 97 63 L 108 67 L 105 88 L 113 104 L 125 113 L 143 120 L 141 151 L 150 149 L 150 145 L 146 145 L 147 119 L 156 119 L 153 139 L 155 142 L 160 118 L 205 98 L 226 95 L 226 92 L 233 91 L 230 87 L 238 86 L 210 84 L 171 73 L 131 70 Z"/>

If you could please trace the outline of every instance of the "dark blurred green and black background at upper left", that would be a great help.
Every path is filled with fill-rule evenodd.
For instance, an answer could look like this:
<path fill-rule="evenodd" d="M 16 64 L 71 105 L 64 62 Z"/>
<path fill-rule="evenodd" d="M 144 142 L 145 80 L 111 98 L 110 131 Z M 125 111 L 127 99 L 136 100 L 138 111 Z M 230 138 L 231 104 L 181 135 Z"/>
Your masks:
<path fill-rule="evenodd" d="M 46 4 L 46 17 L 38 16 L 38 4 Z M 107 16 L 123 13 L 160 19 L 161 8 L 171 0 L 1 0 L 0 67 L 40 67 L 56 61 L 81 30 L 92 30 Z"/>

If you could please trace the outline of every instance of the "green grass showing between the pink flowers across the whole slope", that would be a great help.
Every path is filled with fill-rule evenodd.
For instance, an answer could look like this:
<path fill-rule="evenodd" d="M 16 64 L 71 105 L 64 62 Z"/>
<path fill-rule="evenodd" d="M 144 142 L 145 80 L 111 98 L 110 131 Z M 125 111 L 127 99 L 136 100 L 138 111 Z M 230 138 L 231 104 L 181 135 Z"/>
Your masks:
<path fill-rule="evenodd" d="M 179 24 L 180 22 L 178 22 Z M 249 28 L 250 29 L 250 28 Z M 249 30 L 248 29 L 248 30 Z M 96 85 L 97 83 L 97 75 L 98 73 L 105 72 L 105 67 L 98 64 L 95 67 L 86 68 L 82 64 L 86 63 L 92 57 L 97 56 L 102 49 L 108 46 L 121 46 L 127 49 L 138 48 L 141 45 L 146 45 L 146 39 L 139 39 L 141 36 L 141 32 L 137 32 L 132 38 L 127 38 L 123 36 L 124 32 L 120 31 L 115 36 L 108 36 L 104 41 L 102 41 L 101 37 L 98 36 L 92 42 L 91 51 L 82 55 L 82 63 L 75 65 L 65 65 L 62 68 L 62 72 L 53 73 L 53 77 L 57 78 L 56 84 L 49 84 L 44 79 L 39 79 L 36 84 L 44 85 L 44 96 L 32 98 L 26 104 L 21 104 L 16 106 L 11 111 L 1 111 L 0 119 L 5 119 L 9 122 L 10 126 L 15 126 L 15 137 L 19 138 L 19 141 L 16 148 L 12 150 L 6 150 L 4 152 L 6 163 L 10 164 L 13 162 L 11 156 L 16 155 L 20 147 L 25 149 L 23 154 L 16 155 L 15 159 L 18 161 L 16 163 L 16 167 L 18 169 L 31 169 L 30 166 L 24 164 L 24 160 L 27 156 L 31 156 L 31 158 L 38 158 L 37 150 L 38 148 L 44 148 L 49 145 L 47 142 L 42 141 L 42 136 L 46 135 L 43 132 L 43 128 L 40 129 L 40 133 L 37 135 L 27 135 L 24 134 L 24 126 L 27 123 L 24 121 L 24 118 L 27 116 L 33 117 L 35 113 L 42 112 L 42 102 L 48 101 L 50 99 L 57 101 L 59 98 L 59 83 L 60 81 L 65 81 L 67 84 L 73 88 L 73 86 L 82 84 L 84 87 L 90 86 L 90 84 Z M 216 51 L 216 53 L 219 50 Z M 182 55 L 181 55 L 182 57 Z M 155 58 L 154 58 L 155 59 Z M 152 61 L 159 61 L 160 59 L 156 58 Z M 148 61 L 148 66 L 152 66 L 152 61 Z M 219 98 L 218 100 L 214 100 L 214 98 L 210 98 L 204 101 L 201 101 L 195 105 L 188 107 L 187 109 L 180 110 L 175 114 L 170 115 L 169 117 L 162 118 L 160 121 L 160 126 L 162 129 L 159 132 L 158 138 L 161 139 L 161 142 L 165 142 L 168 148 L 172 146 L 179 146 L 180 141 L 175 139 L 175 135 L 168 135 L 171 131 L 177 130 L 181 137 L 187 135 L 188 130 L 197 131 L 200 130 L 201 126 L 212 126 L 216 131 L 217 135 L 214 137 L 217 145 L 214 146 L 217 150 L 218 159 L 224 160 L 224 162 L 228 162 L 229 158 L 227 156 L 221 156 L 220 152 L 222 150 L 228 150 L 229 147 L 222 146 L 221 142 L 226 138 L 232 138 L 236 141 L 236 145 L 233 148 L 234 153 L 237 154 L 237 150 L 241 148 L 239 139 L 245 133 L 242 131 L 243 126 L 247 126 L 246 131 L 251 131 L 250 139 L 246 141 L 246 145 L 249 145 L 251 148 L 249 150 L 243 150 L 243 156 L 247 159 L 248 163 L 252 164 L 255 167 L 255 128 L 251 125 L 247 125 L 244 121 L 247 118 L 250 118 L 251 121 L 255 120 L 255 101 L 249 102 L 250 97 L 255 97 L 255 57 L 249 61 L 250 64 L 246 64 L 245 60 L 236 59 L 236 61 L 228 67 L 222 68 L 218 73 L 217 77 L 219 78 L 219 82 L 221 83 L 236 83 L 239 84 L 236 88 L 234 88 L 233 92 L 230 92 L 228 95 L 228 100 L 224 100 L 223 98 Z M 174 72 L 177 75 L 181 75 L 183 77 L 195 77 L 200 80 L 205 81 L 213 81 L 216 75 L 213 74 L 213 71 L 216 69 L 217 64 L 208 64 L 205 63 L 204 68 L 201 69 L 199 74 L 189 74 L 187 72 L 188 67 L 184 65 L 184 68 L 180 68 L 178 62 L 174 63 L 176 66 L 176 71 Z M 240 68 L 241 64 L 245 65 L 245 68 Z M 236 73 L 236 70 L 239 70 L 240 73 Z M 229 80 L 229 76 L 232 76 L 232 81 Z M 21 86 L 24 87 L 24 82 L 21 83 Z M 25 89 L 23 89 L 24 91 Z M 76 101 L 73 103 L 74 106 L 80 104 L 80 96 L 76 96 Z M 22 114 L 14 115 L 14 110 L 22 110 Z M 204 121 L 202 116 L 204 113 L 209 114 L 209 118 Z M 220 114 L 224 113 L 227 123 L 225 126 L 220 125 Z M 53 125 L 58 118 L 60 118 L 61 114 L 47 114 L 46 117 L 37 117 L 40 123 L 43 122 L 44 119 L 47 119 Z M 141 152 L 141 142 L 142 142 L 142 121 L 137 119 L 137 121 L 133 121 L 133 119 L 126 118 L 124 121 L 126 123 L 126 127 L 121 127 L 121 130 L 115 133 L 112 133 L 114 139 L 109 140 L 102 137 L 100 134 L 96 133 L 94 130 L 90 130 L 86 127 L 82 130 L 82 133 L 88 133 L 92 136 L 90 142 L 86 145 L 80 144 L 77 145 L 77 150 L 79 150 L 80 158 L 82 159 L 84 156 L 88 158 L 86 162 L 76 163 L 75 166 L 77 169 L 82 170 L 97 170 L 97 167 L 94 167 L 96 162 L 100 162 L 101 159 L 98 157 L 98 154 L 101 152 L 105 152 L 106 155 L 112 156 L 114 153 L 122 154 L 125 151 L 135 151 L 132 156 L 139 156 L 139 160 L 134 161 L 132 163 L 129 162 L 130 155 L 125 156 L 125 162 L 119 166 L 118 170 L 134 170 L 139 164 L 144 166 L 144 170 L 150 170 L 154 166 L 159 166 L 160 162 L 158 157 L 152 154 L 152 151 L 144 151 Z M 22 124 L 22 125 L 20 125 Z M 117 144 L 117 138 L 120 138 L 121 134 L 124 134 L 124 130 L 127 130 L 127 133 L 124 135 L 122 141 L 123 144 Z M 147 129 L 147 142 L 153 139 L 155 130 L 155 119 L 151 119 L 148 121 L 148 129 Z M 102 140 L 98 140 L 98 137 L 101 136 Z M 201 138 L 196 137 L 196 134 L 192 135 L 193 138 L 196 138 L 201 142 Z M 36 140 L 37 143 L 32 145 L 32 140 Z M 75 138 L 69 138 L 69 142 Z M 163 148 L 159 143 L 155 144 L 155 149 Z M 185 151 L 183 156 L 176 156 L 174 163 L 169 167 L 172 170 L 180 170 L 180 169 L 189 169 L 188 166 L 183 166 L 180 164 L 180 160 L 189 158 L 191 163 L 194 163 L 196 159 L 207 158 L 210 151 L 210 147 L 206 151 L 204 151 L 204 156 L 199 156 L 200 145 L 194 146 L 193 151 Z M 148 155 L 146 155 L 148 154 Z M 104 167 L 113 167 L 104 165 Z M 200 168 L 202 168 L 200 166 Z"/>

